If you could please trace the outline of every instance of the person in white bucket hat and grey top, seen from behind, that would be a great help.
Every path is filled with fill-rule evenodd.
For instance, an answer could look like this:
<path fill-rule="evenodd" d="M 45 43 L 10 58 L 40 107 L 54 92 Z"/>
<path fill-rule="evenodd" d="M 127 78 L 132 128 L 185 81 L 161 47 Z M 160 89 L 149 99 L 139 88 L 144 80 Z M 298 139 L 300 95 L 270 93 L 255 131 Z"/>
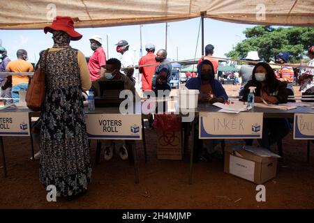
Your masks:
<path fill-rule="evenodd" d="M 246 56 L 245 60 L 246 61 L 252 61 L 252 62 L 249 62 L 248 64 L 244 64 L 240 68 L 239 77 L 241 77 L 241 79 L 242 79 L 241 88 L 239 90 L 239 97 L 240 98 L 243 96 L 242 93 L 243 93 L 244 86 L 252 78 L 252 72 L 253 72 L 255 63 L 260 61 L 260 57 L 258 56 L 257 51 L 250 51 L 250 52 L 248 52 L 248 55 Z"/>

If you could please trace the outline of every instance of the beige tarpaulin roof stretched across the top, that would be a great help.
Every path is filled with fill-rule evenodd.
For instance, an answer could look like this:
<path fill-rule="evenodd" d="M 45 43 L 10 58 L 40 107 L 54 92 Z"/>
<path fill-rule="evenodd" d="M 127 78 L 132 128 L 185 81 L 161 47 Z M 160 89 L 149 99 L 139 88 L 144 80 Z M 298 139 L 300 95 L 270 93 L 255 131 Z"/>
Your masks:
<path fill-rule="evenodd" d="M 43 29 L 54 16 L 76 27 L 208 17 L 244 24 L 314 26 L 314 0 L 0 0 L 0 29 Z"/>

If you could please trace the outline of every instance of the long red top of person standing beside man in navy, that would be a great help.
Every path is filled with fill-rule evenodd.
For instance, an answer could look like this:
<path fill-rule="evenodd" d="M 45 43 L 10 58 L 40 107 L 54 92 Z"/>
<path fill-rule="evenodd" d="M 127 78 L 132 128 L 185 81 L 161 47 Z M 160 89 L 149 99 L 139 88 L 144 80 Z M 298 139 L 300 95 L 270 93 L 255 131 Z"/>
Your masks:
<path fill-rule="evenodd" d="M 147 53 L 145 56 L 142 56 L 138 62 L 139 66 L 157 63 L 155 60 L 155 54 L 153 52 Z M 147 66 L 141 67 L 138 70 L 142 72 L 142 91 L 151 91 L 151 81 L 155 73 L 157 66 Z"/>

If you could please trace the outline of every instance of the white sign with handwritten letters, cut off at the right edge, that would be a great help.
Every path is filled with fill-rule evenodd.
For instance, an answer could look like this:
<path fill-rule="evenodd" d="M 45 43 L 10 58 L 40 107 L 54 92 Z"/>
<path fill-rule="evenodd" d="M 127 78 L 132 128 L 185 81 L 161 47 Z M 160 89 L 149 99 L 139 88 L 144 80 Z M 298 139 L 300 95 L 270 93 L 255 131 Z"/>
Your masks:
<path fill-rule="evenodd" d="M 314 113 L 294 114 L 293 139 L 314 139 Z"/>

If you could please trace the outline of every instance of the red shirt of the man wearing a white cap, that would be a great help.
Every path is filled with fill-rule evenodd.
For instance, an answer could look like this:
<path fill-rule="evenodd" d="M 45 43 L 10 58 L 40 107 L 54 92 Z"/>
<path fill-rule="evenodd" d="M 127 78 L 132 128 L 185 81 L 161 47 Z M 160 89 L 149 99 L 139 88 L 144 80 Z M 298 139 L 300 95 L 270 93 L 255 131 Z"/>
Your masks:
<path fill-rule="evenodd" d="M 94 82 L 100 77 L 100 67 L 106 65 L 106 54 L 103 47 L 98 47 L 91 55 L 89 59 L 89 74 L 91 76 L 91 81 Z"/>

